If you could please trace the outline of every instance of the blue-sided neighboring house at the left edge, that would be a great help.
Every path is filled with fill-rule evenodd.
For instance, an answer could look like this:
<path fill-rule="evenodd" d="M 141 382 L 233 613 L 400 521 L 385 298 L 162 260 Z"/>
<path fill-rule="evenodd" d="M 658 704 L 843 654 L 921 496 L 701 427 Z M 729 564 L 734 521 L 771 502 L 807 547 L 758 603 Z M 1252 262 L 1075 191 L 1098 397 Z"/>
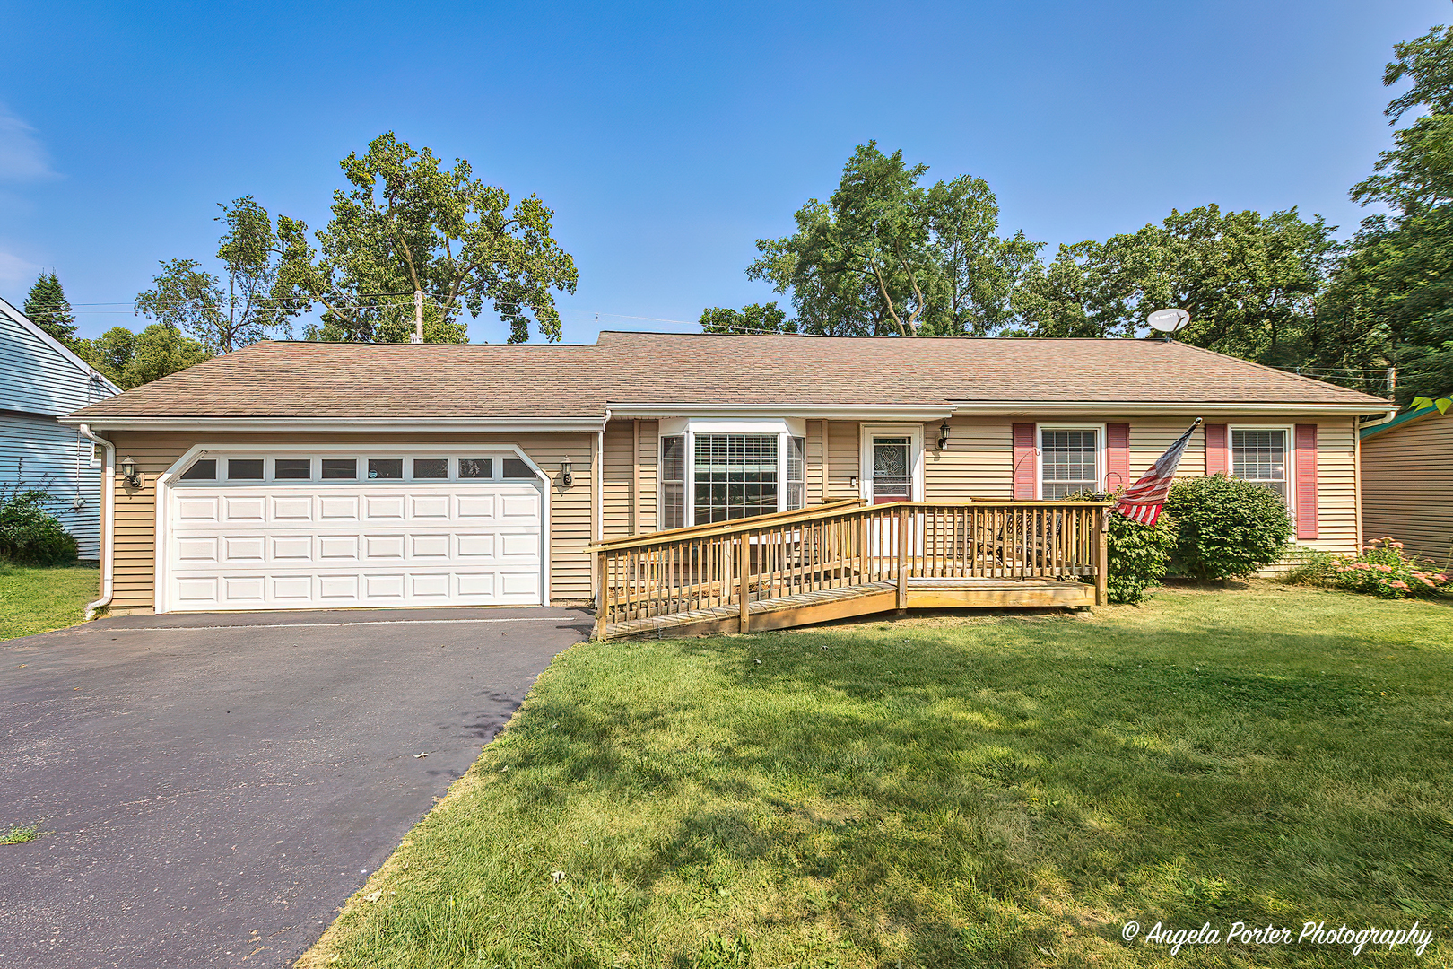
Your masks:
<path fill-rule="evenodd" d="M 113 394 L 121 388 L 0 299 L 0 488 L 48 491 L 83 559 L 100 558 L 100 455 L 55 418 Z"/>

